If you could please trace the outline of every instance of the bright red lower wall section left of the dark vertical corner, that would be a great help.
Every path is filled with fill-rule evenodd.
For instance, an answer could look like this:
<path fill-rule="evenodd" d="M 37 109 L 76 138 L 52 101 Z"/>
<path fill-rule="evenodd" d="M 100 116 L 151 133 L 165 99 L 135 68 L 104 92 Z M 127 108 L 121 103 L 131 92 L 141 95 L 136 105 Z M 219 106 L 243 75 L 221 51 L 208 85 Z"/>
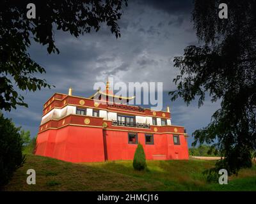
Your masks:
<path fill-rule="evenodd" d="M 74 163 L 104 161 L 101 128 L 67 126 L 38 134 L 36 155 Z"/>

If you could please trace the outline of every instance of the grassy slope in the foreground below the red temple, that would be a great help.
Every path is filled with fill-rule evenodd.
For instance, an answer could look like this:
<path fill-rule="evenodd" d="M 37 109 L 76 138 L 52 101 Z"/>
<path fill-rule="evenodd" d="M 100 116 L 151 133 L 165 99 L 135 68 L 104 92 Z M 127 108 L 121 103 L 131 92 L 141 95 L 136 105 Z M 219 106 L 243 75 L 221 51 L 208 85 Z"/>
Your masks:
<path fill-rule="evenodd" d="M 134 171 L 132 161 L 67 163 L 27 155 L 6 191 L 256 191 L 256 166 L 230 177 L 228 185 L 207 184 L 202 171 L 214 161 L 147 161 L 148 170 Z M 36 171 L 36 185 L 26 184 L 26 171 Z"/>

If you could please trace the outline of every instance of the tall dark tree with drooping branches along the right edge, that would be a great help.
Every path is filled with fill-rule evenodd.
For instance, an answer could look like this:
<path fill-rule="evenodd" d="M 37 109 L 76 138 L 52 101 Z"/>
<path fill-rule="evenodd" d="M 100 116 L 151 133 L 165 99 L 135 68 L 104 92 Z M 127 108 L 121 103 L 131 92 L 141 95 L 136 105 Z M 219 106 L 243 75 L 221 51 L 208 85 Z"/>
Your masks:
<path fill-rule="evenodd" d="M 218 17 L 220 3 L 228 5 L 228 19 Z M 188 105 L 198 98 L 199 107 L 205 94 L 221 101 L 211 123 L 193 133 L 193 145 L 209 143 L 224 156 L 212 171 L 237 173 L 252 166 L 256 150 L 256 1 L 195 0 L 192 20 L 200 46 L 175 57 L 180 75 L 170 95 Z"/>

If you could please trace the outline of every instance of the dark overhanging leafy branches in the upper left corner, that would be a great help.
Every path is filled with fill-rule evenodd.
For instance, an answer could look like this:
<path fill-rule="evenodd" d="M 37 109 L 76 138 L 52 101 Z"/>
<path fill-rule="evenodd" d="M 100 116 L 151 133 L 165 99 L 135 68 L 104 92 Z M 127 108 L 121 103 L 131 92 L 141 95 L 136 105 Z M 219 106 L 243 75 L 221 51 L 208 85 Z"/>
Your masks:
<path fill-rule="evenodd" d="M 36 6 L 36 18 L 28 19 L 28 3 Z M 17 105 L 28 106 L 18 89 L 36 91 L 49 87 L 36 73 L 45 73 L 28 53 L 31 40 L 47 46 L 47 52 L 59 53 L 54 43 L 54 29 L 69 32 L 76 38 L 92 29 L 99 31 L 106 22 L 116 38 L 120 37 L 118 24 L 122 6 L 127 0 L 81 1 L 0 1 L 0 110 L 10 111 Z"/>

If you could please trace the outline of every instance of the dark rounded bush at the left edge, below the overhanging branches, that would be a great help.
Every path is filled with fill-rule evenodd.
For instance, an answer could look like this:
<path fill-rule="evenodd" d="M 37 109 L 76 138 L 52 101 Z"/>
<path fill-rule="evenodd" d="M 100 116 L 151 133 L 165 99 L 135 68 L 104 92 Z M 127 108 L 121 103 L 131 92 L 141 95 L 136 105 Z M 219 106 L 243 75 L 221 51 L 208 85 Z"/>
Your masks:
<path fill-rule="evenodd" d="M 8 183 L 13 172 L 25 161 L 19 130 L 0 113 L 0 188 Z"/>

